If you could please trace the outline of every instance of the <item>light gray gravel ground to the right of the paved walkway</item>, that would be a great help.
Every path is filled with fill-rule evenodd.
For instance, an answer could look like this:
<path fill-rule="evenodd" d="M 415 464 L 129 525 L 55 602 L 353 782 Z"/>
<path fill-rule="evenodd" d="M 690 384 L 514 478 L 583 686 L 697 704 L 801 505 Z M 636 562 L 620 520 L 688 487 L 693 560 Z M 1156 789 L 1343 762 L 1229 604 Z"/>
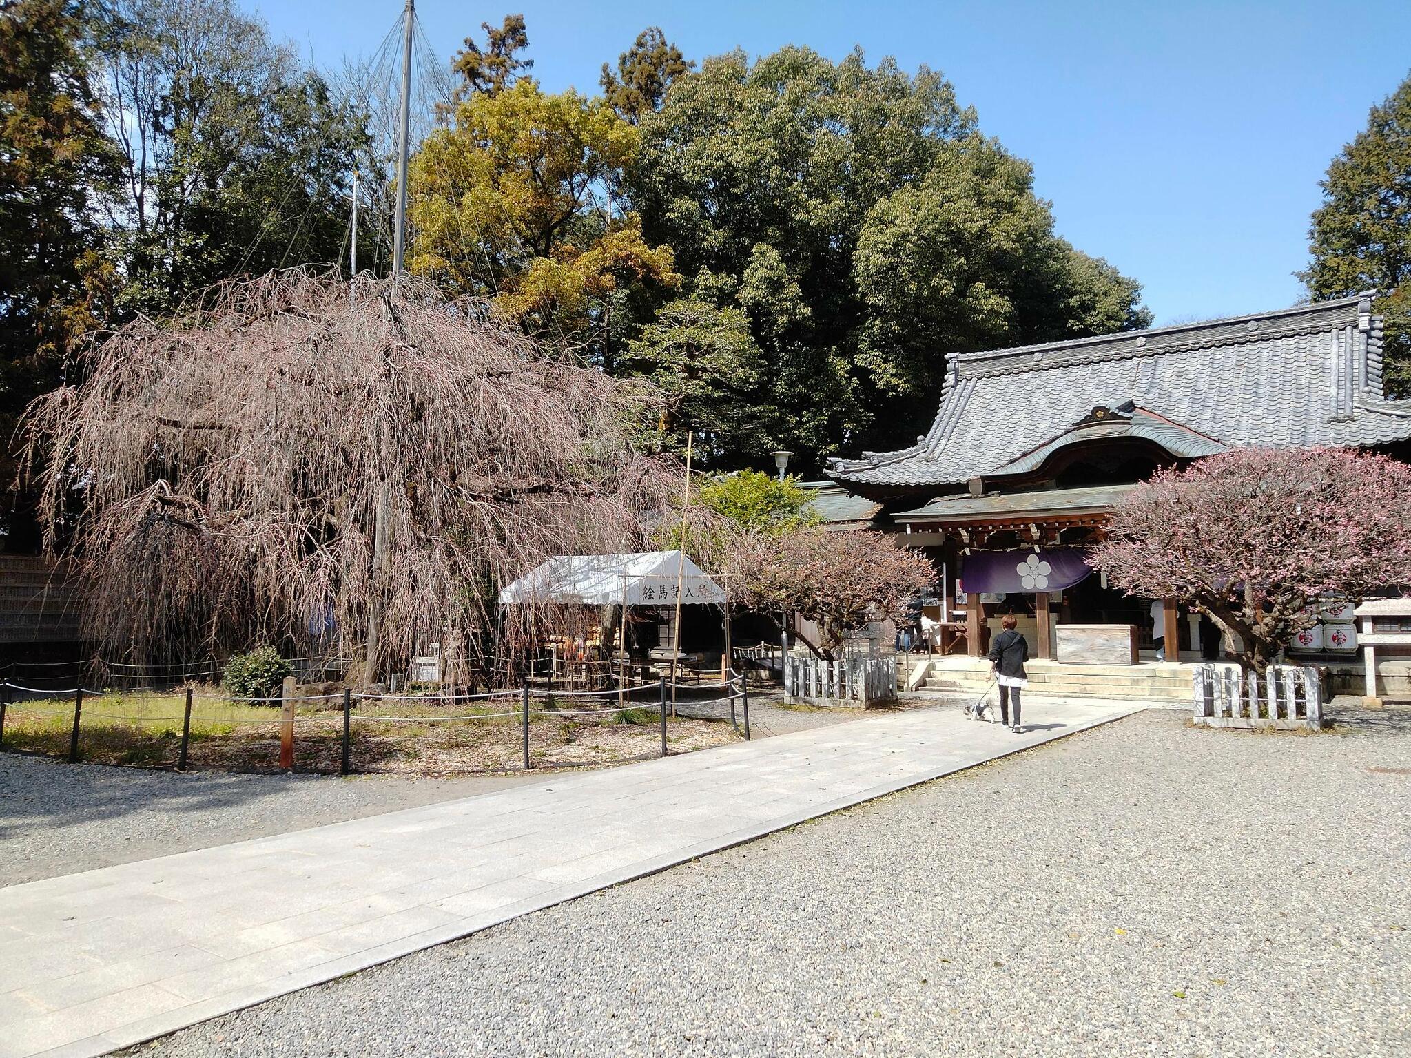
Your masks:
<path fill-rule="evenodd" d="M 1411 712 L 1146 712 L 144 1055 L 1405 1055 Z"/>

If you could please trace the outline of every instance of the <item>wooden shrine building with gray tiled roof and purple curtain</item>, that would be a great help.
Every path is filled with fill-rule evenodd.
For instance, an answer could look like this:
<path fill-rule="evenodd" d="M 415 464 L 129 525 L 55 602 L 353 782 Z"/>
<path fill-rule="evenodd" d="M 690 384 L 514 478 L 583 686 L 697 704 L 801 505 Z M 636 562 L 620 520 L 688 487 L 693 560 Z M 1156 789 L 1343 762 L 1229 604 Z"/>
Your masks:
<path fill-rule="evenodd" d="M 865 512 L 931 557 L 945 595 L 926 614 L 941 653 L 983 655 L 1013 612 L 1040 659 L 1134 664 L 1156 659 L 1160 638 L 1178 645 L 1168 660 L 1195 660 L 1195 615 L 1109 588 L 1082 560 L 1122 497 L 1228 449 L 1407 458 L 1408 439 L 1411 401 L 1383 392 L 1381 319 L 1362 295 L 950 355 L 931 429 L 900 451 L 832 460 L 820 506 Z M 1305 646 L 1355 652 L 1355 639 Z"/>

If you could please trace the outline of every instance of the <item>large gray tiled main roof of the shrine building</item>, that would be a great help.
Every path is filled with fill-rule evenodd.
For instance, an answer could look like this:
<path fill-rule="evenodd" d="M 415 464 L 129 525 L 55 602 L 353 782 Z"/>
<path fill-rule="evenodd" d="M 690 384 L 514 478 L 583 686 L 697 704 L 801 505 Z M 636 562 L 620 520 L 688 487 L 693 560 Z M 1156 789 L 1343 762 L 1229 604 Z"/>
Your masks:
<path fill-rule="evenodd" d="M 1095 408 L 1123 409 L 1075 429 Z M 1098 432 L 1098 433 L 1095 433 Z M 1223 447 L 1371 446 L 1411 437 L 1384 401 L 1370 296 L 950 358 L 941 408 L 910 449 L 834 460 L 876 488 L 1019 474 L 1078 434 L 1147 437 L 1180 456 Z"/>

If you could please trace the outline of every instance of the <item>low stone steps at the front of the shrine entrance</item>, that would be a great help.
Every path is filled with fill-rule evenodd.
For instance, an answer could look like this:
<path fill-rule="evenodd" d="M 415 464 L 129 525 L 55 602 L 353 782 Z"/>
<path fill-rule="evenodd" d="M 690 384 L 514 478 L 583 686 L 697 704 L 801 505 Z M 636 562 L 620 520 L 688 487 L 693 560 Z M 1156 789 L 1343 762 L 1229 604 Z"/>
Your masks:
<path fill-rule="evenodd" d="M 1026 694 L 1061 698 L 1129 698 L 1185 705 L 1191 701 L 1189 664 L 1058 664 L 1029 662 Z M 989 663 L 959 657 L 934 659 L 923 691 L 978 698 L 989 686 Z"/>

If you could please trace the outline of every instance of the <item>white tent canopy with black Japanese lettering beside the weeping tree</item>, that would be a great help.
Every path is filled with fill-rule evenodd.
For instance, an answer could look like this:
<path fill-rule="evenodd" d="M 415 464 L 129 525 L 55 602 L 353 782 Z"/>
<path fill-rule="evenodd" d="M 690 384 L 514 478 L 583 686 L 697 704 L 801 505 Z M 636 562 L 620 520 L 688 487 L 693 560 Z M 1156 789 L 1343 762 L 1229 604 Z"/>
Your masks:
<path fill-rule="evenodd" d="M 584 607 L 673 607 L 676 573 L 682 570 L 680 601 L 684 605 L 725 601 L 725 591 L 680 552 L 629 554 L 556 554 L 499 592 L 505 605 L 571 602 Z"/>

